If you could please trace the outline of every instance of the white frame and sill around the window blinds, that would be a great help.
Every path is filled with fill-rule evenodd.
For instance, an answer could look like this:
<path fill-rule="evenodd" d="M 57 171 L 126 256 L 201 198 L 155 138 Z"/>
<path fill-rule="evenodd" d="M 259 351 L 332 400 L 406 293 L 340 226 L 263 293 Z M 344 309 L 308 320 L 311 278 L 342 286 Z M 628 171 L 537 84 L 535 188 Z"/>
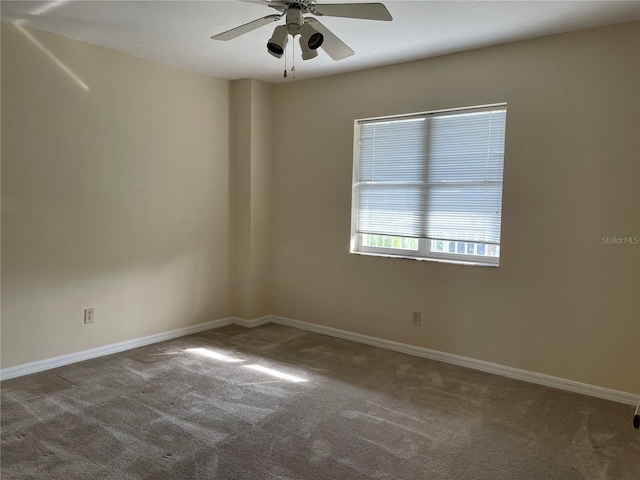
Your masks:
<path fill-rule="evenodd" d="M 478 265 L 478 266 L 494 266 L 497 267 L 500 265 L 500 243 L 495 244 L 498 249 L 497 256 L 489 256 L 489 255 L 477 255 L 477 254 L 468 254 L 468 253 L 450 253 L 445 251 L 436 251 L 432 249 L 432 242 L 440 241 L 431 238 L 416 238 L 417 241 L 417 249 L 403 249 L 403 248 L 394 248 L 394 247 L 374 247 L 367 245 L 365 243 L 367 234 L 359 233 L 356 231 L 357 221 L 358 221 L 358 211 L 359 211 L 359 195 L 358 195 L 358 168 L 360 165 L 360 126 L 363 123 L 375 122 L 375 121 L 393 121 L 393 120 L 401 120 L 408 118 L 416 118 L 416 117 L 437 117 L 448 114 L 457 114 L 457 113 L 469 113 L 473 111 L 490 111 L 490 110 L 500 110 L 503 109 L 506 114 L 507 104 L 506 103 L 496 103 L 490 105 L 481 105 L 481 106 L 473 106 L 473 107 L 464 107 L 464 108 L 455 108 L 455 109 L 446 109 L 446 110 L 435 110 L 429 112 L 420 112 L 420 113 L 412 113 L 406 115 L 394 115 L 394 116 L 385 116 L 385 117 L 375 117 L 375 118 L 366 118 L 366 119 L 357 119 L 354 121 L 354 148 L 353 148 L 353 180 L 352 180 L 352 205 L 351 205 L 351 243 L 350 243 L 350 253 L 360 254 L 360 255 L 373 255 L 373 256 L 382 256 L 382 257 L 392 257 L 392 258 L 408 258 L 414 260 L 429 260 L 435 262 L 446 262 L 446 263 L 455 263 L 455 264 L 464 264 L 464 265 Z M 506 127 L 505 127 L 506 130 Z M 506 143 L 506 133 L 505 133 L 505 143 Z M 425 159 L 425 163 L 428 160 Z M 502 165 L 504 166 L 504 157 L 502 158 Z M 499 182 L 500 188 L 502 189 L 502 185 L 504 183 L 504 175 L 502 175 L 501 180 Z M 502 198 L 502 195 L 500 195 Z M 499 205 L 500 209 L 500 217 L 502 222 L 502 204 Z M 396 237 L 397 238 L 397 237 Z M 403 237 L 400 237 L 403 238 Z M 448 241 L 448 240 L 443 240 Z M 474 241 L 472 239 L 459 239 L 457 240 L 460 243 L 468 243 L 468 244 L 483 244 L 485 248 L 488 248 L 490 244 Z"/>

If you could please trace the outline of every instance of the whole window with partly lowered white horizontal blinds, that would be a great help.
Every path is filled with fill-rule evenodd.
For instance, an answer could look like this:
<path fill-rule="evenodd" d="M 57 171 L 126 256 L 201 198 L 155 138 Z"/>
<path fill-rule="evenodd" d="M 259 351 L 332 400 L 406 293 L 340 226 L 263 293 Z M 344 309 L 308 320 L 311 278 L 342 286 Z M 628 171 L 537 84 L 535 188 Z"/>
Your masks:
<path fill-rule="evenodd" d="M 351 252 L 498 265 L 506 114 L 356 120 Z"/>

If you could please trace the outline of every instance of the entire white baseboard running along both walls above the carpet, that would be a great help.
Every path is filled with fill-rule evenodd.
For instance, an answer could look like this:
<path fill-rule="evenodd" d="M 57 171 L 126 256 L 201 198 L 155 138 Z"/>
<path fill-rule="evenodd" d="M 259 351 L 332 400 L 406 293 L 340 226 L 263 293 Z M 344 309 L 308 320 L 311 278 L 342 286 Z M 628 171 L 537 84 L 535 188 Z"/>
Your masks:
<path fill-rule="evenodd" d="M 461 355 L 439 352 L 437 350 L 431 350 L 429 348 L 416 347 L 414 345 L 407 345 L 405 343 L 393 342 L 391 340 L 385 340 L 382 338 L 370 337 L 368 335 L 362 335 L 359 333 L 349 332 L 332 327 L 325 327 L 323 325 L 303 322 L 301 320 L 294 320 L 277 315 L 267 315 L 253 320 L 246 320 L 237 317 L 222 318 L 219 320 L 214 320 L 212 322 L 205 322 L 198 325 L 178 328 L 169 332 L 158 333 L 155 335 L 149 335 L 147 337 L 113 343 L 111 345 L 105 345 L 103 347 L 93 348 L 91 350 L 84 350 L 82 352 L 71 353 L 69 355 L 62 355 L 59 357 L 39 360 L 37 362 L 16 365 L 15 367 L 9 367 L 0 370 L 0 380 L 9 380 L 10 378 L 38 373 L 45 370 L 50 370 L 52 368 L 69 365 L 71 363 L 82 362 L 84 360 L 90 360 L 92 358 L 102 357 L 104 355 L 110 355 L 112 353 L 123 352 L 125 350 L 143 347 L 152 343 L 158 343 L 165 340 L 171 340 L 173 338 L 184 337 L 186 335 L 192 335 L 194 333 L 211 330 L 213 328 L 225 327 L 231 324 L 251 328 L 265 325 L 267 323 L 286 325 L 309 332 L 320 333 L 322 335 L 328 335 L 331 337 L 343 338 L 345 340 L 351 340 L 354 342 L 364 343 L 366 345 L 386 348 L 388 350 L 406 353 L 417 357 L 451 363 L 453 365 L 460 365 L 462 367 L 473 368 L 475 370 L 480 370 L 483 372 L 502 375 L 505 377 L 523 380 L 530 383 L 536 383 L 547 387 L 567 390 L 569 392 L 581 393 L 592 397 L 603 398 L 605 400 L 612 400 L 614 402 L 624 403 L 628 405 L 636 405 L 638 401 L 640 401 L 640 395 L 635 395 L 632 393 L 611 390 L 609 388 L 598 387 L 595 385 L 580 383 L 573 380 L 566 380 L 564 378 L 553 377 L 551 375 L 545 375 L 542 373 L 530 372 L 528 370 L 506 367 L 497 363 L 475 360 L 473 358 L 463 357 Z"/>

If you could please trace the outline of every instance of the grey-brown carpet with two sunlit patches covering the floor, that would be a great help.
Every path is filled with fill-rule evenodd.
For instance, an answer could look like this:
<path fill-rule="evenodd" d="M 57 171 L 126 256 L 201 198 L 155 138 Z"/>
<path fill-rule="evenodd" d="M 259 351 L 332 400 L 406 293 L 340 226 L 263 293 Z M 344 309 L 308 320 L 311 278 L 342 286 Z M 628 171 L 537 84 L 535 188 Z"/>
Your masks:
<path fill-rule="evenodd" d="M 631 406 L 278 325 L 1 387 L 2 480 L 640 479 Z"/>

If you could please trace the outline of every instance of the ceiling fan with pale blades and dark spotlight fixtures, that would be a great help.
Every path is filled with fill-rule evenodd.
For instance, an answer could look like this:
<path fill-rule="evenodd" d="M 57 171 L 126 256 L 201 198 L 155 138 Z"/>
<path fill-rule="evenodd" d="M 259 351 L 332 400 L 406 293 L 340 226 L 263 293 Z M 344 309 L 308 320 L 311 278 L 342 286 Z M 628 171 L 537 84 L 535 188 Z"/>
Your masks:
<path fill-rule="evenodd" d="M 276 58 L 282 57 L 289 35 L 300 35 L 302 59 L 309 60 L 318 56 L 318 48 L 329 54 L 334 60 L 342 60 L 354 54 L 342 40 L 325 27 L 318 19 L 305 17 L 310 14 L 319 17 L 361 18 L 365 20 L 391 21 L 393 18 L 381 3 L 321 3 L 315 0 L 245 0 L 260 3 L 281 12 L 267 15 L 226 32 L 212 36 L 213 40 L 232 40 L 240 35 L 249 33 L 271 22 L 277 22 L 282 17 L 285 24 L 275 28 L 273 35 L 267 42 L 267 50 Z"/>

